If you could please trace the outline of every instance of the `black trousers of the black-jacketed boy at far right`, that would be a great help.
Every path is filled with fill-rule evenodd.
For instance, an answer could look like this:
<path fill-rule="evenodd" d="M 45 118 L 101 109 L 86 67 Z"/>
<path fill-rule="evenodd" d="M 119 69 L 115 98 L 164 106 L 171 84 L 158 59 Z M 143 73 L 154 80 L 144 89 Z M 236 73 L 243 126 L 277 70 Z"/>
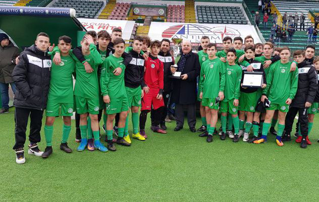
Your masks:
<path fill-rule="evenodd" d="M 289 108 L 289 111 L 285 119 L 285 131 L 286 134 L 290 134 L 294 119 L 298 113 L 298 122 L 300 124 L 300 132 L 303 137 L 308 135 L 308 112 L 306 108 Z"/>

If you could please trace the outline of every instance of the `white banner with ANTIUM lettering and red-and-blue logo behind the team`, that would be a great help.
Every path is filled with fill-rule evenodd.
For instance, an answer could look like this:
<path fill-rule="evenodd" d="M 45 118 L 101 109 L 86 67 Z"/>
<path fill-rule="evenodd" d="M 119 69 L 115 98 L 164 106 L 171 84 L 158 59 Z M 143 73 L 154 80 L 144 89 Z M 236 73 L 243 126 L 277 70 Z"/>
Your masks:
<path fill-rule="evenodd" d="M 212 43 L 223 43 L 226 36 L 240 36 L 244 39 L 247 35 L 254 38 L 254 43 L 260 42 L 252 25 L 152 22 L 148 32 L 152 40 L 182 38 L 192 43 L 200 43 L 202 36 L 208 36 Z"/>

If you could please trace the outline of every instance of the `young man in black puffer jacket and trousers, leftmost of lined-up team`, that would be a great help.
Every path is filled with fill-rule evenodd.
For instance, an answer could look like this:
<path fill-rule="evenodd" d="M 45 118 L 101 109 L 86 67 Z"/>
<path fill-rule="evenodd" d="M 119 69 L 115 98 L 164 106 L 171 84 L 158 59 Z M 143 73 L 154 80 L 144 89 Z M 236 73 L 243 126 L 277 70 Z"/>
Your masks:
<path fill-rule="evenodd" d="M 30 116 L 30 134 L 28 153 L 41 156 L 43 151 L 38 148 L 40 142 L 40 130 L 42 125 L 43 110 L 46 108 L 47 93 L 50 82 L 51 57 L 47 54 L 49 36 L 39 33 L 34 45 L 24 49 L 21 53 L 20 62 L 13 70 L 12 78 L 16 83 L 17 90 L 13 105 L 15 111 L 15 137 L 13 147 L 16 151 L 18 164 L 23 164 L 24 143 L 26 129 Z"/>

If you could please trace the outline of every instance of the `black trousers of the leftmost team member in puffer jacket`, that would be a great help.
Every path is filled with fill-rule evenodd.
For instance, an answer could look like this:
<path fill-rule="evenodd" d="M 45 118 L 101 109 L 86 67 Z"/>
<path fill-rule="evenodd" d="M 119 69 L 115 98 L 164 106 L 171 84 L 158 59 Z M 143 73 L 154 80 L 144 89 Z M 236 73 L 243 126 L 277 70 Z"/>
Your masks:
<path fill-rule="evenodd" d="M 15 110 L 15 137 L 16 144 L 13 149 L 23 148 L 26 140 L 26 130 L 30 116 L 30 133 L 29 141 L 37 143 L 41 141 L 40 131 L 42 126 L 43 111 L 31 110 L 24 108 L 16 108 Z"/>

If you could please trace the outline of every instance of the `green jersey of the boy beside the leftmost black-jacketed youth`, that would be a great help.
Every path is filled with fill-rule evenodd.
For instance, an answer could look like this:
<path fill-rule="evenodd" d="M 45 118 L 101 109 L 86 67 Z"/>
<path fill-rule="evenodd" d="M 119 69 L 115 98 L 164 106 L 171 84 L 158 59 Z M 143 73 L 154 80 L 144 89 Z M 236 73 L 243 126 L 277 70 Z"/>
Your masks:
<path fill-rule="evenodd" d="M 54 56 L 51 56 L 53 60 Z M 75 62 L 71 56 L 61 56 L 61 63 L 52 63 L 48 102 L 73 103 L 73 78 Z"/>

